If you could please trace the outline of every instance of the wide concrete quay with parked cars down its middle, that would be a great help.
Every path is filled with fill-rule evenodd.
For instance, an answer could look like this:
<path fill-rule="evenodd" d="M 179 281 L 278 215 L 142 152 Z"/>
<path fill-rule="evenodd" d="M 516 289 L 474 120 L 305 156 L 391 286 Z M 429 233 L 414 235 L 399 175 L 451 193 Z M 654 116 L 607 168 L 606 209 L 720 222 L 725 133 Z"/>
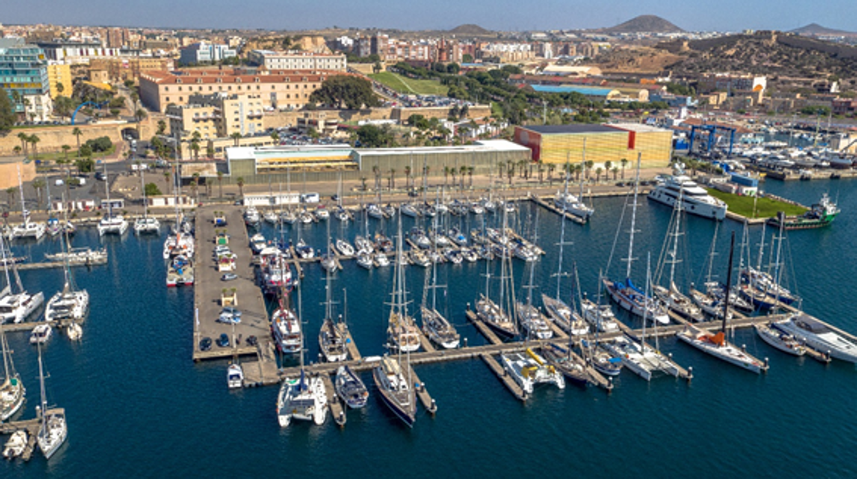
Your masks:
<path fill-rule="evenodd" d="M 214 211 L 225 213 L 226 226 L 214 226 Z M 229 246 L 233 253 L 237 254 L 234 271 L 238 278 L 228 282 L 220 280 L 223 274 L 217 270 L 214 258 L 215 229 L 226 230 L 230 236 Z M 231 356 L 252 355 L 266 357 L 258 354 L 255 347 L 241 347 L 246 344 L 247 338 L 255 336 L 261 350 L 267 350 L 268 343 L 272 343 L 271 327 L 268 320 L 267 308 L 262 292 L 256 284 L 255 266 L 249 248 L 249 237 L 247 228 L 239 208 L 224 208 L 218 206 L 201 207 L 196 213 L 196 254 L 194 259 L 194 306 L 196 311 L 193 321 L 194 346 L 193 360 L 201 361 L 207 359 L 225 358 Z M 233 326 L 219 323 L 217 319 L 223 296 L 236 298 L 234 306 L 238 308 L 241 322 Z M 211 350 L 201 351 L 200 341 L 202 338 L 211 338 L 216 341 L 221 334 L 230 338 L 229 347 L 220 347 L 212 344 Z M 243 341 L 241 344 L 237 344 Z M 250 368 L 252 369 L 252 368 Z"/>

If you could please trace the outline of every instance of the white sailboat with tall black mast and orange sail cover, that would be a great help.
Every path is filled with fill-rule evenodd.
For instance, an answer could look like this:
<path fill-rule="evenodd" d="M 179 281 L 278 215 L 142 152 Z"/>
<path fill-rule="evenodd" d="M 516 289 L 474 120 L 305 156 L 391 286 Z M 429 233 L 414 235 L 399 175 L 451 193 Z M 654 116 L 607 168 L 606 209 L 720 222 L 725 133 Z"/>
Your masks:
<path fill-rule="evenodd" d="M 676 334 L 679 339 L 694 348 L 715 356 L 717 359 L 734 364 L 740 368 L 759 374 L 768 370 L 768 363 L 759 361 L 757 358 L 747 354 L 746 351 L 736 347 L 726 340 L 726 324 L 728 321 L 728 296 L 732 288 L 732 260 L 734 257 L 735 233 L 732 233 L 732 242 L 729 246 L 728 275 L 726 279 L 726 301 L 723 302 L 723 325 L 719 332 L 710 332 L 698 329 L 696 326 L 687 325 L 684 331 Z"/>

